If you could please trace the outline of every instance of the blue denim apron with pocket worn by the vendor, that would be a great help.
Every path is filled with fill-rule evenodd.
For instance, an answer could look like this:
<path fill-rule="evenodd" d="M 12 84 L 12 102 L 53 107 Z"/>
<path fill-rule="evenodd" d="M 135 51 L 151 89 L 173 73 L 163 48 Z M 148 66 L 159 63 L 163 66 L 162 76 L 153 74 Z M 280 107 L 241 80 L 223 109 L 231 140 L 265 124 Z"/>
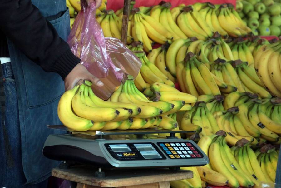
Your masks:
<path fill-rule="evenodd" d="M 66 1 L 32 0 L 32 4 L 66 41 L 70 32 Z M 64 92 L 64 82 L 57 73 L 44 72 L 9 40 L 8 48 L 17 90 L 23 171 L 26 184 L 36 184 L 47 179 L 52 168 L 59 164 L 44 157 L 42 149 L 48 135 L 62 133 L 47 125 L 61 124 L 57 104 Z"/>

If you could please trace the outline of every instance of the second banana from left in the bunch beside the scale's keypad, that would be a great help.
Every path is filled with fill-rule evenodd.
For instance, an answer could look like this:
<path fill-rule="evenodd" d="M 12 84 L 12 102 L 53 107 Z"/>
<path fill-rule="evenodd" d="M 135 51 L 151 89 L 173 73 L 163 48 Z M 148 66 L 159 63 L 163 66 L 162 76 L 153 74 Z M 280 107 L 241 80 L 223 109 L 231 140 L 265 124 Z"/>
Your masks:
<path fill-rule="evenodd" d="M 228 185 L 230 187 L 239 187 L 238 180 L 234 177 L 232 172 L 229 171 L 229 168 L 223 162 L 223 158 L 225 156 L 222 156 L 220 151 L 221 149 L 218 142 L 215 141 L 210 145 L 208 156 L 212 168 L 215 171 L 223 174 L 229 180 Z"/>

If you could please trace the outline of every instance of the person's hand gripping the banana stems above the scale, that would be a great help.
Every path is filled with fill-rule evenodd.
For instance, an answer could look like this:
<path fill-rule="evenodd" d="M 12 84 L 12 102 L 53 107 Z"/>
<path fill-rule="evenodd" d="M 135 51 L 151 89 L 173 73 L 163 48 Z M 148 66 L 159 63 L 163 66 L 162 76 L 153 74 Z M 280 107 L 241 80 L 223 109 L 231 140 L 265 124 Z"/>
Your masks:
<path fill-rule="evenodd" d="M 96 86 L 103 86 L 100 79 L 93 76 L 84 65 L 78 63 L 64 79 L 65 91 L 72 89 L 80 79 L 90 80 Z"/>

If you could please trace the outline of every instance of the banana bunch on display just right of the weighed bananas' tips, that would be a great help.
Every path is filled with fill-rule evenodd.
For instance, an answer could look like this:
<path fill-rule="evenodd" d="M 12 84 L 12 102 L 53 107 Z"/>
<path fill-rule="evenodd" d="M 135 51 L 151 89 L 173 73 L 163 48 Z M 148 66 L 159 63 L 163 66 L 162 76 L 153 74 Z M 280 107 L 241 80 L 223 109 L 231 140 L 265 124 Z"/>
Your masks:
<path fill-rule="evenodd" d="M 202 136 L 209 136 L 219 131 L 213 114 L 204 101 L 198 101 L 192 109 L 185 112 L 180 122 L 180 130 L 195 131 Z"/>

